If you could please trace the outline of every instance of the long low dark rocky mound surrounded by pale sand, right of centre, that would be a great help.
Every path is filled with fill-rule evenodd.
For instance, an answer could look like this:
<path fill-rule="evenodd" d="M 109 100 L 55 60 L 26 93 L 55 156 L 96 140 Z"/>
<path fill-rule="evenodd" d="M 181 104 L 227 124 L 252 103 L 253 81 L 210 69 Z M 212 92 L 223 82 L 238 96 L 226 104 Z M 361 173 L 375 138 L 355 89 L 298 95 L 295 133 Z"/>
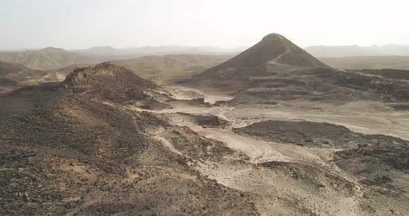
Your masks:
<path fill-rule="evenodd" d="M 308 121 L 268 120 L 235 128 L 234 132 L 248 134 L 267 141 L 310 147 L 347 148 L 379 143 L 382 145 L 406 143 L 399 138 L 358 134 L 341 125 Z"/>

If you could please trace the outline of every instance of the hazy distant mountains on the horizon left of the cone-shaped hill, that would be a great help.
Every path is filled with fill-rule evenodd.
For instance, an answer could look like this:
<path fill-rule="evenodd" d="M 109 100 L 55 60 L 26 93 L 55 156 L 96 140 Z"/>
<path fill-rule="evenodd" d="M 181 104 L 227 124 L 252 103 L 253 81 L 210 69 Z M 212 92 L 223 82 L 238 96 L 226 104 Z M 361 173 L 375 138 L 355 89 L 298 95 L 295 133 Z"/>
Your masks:
<path fill-rule="evenodd" d="M 235 55 L 245 48 L 217 48 L 214 46 L 144 46 L 114 48 L 94 46 L 85 50 L 66 51 L 47 47 L 27 51 L 0 51 L 3 62 L 22 64 L 31 69 L 59 69 L 67 66 L 89 65 L 98 62 L 131 60 L 147 55 Z"/>

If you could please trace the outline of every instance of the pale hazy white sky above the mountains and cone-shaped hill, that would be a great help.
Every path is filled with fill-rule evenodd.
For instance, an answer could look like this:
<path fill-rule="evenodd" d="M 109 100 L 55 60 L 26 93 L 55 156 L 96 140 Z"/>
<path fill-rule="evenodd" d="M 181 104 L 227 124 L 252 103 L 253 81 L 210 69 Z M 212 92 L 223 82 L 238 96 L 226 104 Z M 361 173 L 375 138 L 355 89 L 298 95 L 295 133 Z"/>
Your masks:
<path fill-rule="evenodd" d="M 0 0 L 0 49 L 409 44 L 409 0 Z"/>

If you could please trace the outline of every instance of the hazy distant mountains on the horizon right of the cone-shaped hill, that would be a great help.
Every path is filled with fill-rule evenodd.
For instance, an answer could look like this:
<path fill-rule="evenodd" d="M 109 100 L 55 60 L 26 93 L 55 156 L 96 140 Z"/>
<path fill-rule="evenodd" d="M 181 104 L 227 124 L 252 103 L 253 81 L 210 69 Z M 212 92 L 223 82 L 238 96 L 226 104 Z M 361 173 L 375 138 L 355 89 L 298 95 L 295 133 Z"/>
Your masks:
<path fill-rule="evenodd" d="M 316 57 L 409 55 L 408 45 L 385 46 L 308 46 L 305 51 Z"/>

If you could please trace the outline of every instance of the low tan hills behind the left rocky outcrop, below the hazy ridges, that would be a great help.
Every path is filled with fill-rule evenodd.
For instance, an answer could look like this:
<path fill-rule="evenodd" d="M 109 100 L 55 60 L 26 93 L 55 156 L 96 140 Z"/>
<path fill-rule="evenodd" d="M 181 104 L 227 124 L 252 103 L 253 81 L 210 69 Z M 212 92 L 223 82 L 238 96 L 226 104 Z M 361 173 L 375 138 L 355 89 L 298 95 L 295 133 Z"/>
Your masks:
<path fill-rule="evenodd" d="M 97 48 L 100 51 L 100 48 Z M 136 75 L 157 84 L 172 84 L 193 74 L 200 73 L 210 66 L 228 60 L 229 55 L 151 55 L 130 60 L 116 61 L 114 64 L 125 66 Z M 7 65 L 6 65 L 7 64 Z M 76 63 L 58 66 L 53 69 L 30 69 L 22 64 L 1 63 L 0 88 L 2 92 L 11 91 L 30 84 L 61 82 L 72 71 L 92 63 Z M 18 72 L 20 71 L 20 72 Z"/>

